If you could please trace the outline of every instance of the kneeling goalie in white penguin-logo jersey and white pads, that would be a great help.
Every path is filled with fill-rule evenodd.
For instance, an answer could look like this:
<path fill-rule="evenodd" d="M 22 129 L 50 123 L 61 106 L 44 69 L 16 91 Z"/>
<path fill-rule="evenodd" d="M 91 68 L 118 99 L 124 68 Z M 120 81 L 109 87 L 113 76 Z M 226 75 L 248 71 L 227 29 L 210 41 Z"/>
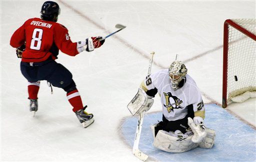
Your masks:
<path fill-rule="evenodd" d="M 184 152 L 197 146 L 211 148 L 215 132 L 203 125 L 203 101 L 187 68 L 175 60 L 168 69 L 149 74 L 129 103 L 133 115 L 147 111 L 158 92 L 162 104 L 162 121 L 151 125 L 153 145 L 168 152 Z"/>

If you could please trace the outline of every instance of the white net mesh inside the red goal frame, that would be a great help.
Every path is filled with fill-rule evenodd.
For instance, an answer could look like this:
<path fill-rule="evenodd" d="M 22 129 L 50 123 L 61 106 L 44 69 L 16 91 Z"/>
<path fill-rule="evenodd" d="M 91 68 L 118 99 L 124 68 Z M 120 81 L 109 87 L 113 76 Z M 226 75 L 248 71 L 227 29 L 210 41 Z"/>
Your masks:
<path fill-rule="evenodd" d="M 255 19 L 231 19 L 256 35 Z M 256 90 L 256 41 L 228 25 L 227 102 L 245 91 Z"/>

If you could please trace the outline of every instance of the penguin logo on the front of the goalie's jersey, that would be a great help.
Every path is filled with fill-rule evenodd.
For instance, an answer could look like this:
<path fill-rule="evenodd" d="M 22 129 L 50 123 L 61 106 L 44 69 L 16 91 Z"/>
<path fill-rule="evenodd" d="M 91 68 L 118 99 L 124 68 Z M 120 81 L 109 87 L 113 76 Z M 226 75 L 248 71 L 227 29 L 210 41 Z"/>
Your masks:
<path fill-rule="evenodd" d="M 171 92 L 163 92 L 164 97 L 165 97 L 165 101 L 166 101 L 166 105 L 164 105 L 164 107 L 167 108 L 167 111 L 170 113 L 170 111 L 173 112 L 174 108 L 183 108 L 180 104 L 183 102 L 182 100 L 180 100 L 178 97 L 174 96 L 171 94 Z"/>

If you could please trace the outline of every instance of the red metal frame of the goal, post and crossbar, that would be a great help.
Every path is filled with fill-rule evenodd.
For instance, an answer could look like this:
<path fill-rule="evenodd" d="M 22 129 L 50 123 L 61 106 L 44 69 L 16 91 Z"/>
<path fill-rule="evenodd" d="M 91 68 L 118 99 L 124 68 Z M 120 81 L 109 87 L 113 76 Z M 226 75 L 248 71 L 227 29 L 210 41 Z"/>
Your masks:
<path fill-rule="evenodd" d="M 227 19 L 224 22 L 224 35 L 223 35 L 223 75 L 222 75 L 222 107 L 225 108 L 227 106 L 226 95 L 227 95 L 227 58 L 228 58 L 228 25 L 234 27 L 238 31 L 247 35 L 256 41 L 256 35 L 249 32 L 242 26 L 238 25 L 231 19 Z"/>

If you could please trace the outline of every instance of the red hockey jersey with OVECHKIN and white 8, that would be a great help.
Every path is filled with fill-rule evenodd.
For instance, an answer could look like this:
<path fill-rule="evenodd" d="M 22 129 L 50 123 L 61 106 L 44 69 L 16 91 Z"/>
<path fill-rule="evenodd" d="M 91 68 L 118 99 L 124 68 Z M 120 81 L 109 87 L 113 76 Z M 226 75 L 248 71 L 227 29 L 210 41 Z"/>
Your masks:
<path fill-rule="evenodd" d="M 49 56 L 55 59 L 58 49 L 74 56 L 78 54 L 76 42 L 72 42 L 68 30 L 61 24 L 30 18 L 24 22 L 11 36 L 10 45 L 19 47 L 25 43 L 21 61 L 40 62 Z"/>

